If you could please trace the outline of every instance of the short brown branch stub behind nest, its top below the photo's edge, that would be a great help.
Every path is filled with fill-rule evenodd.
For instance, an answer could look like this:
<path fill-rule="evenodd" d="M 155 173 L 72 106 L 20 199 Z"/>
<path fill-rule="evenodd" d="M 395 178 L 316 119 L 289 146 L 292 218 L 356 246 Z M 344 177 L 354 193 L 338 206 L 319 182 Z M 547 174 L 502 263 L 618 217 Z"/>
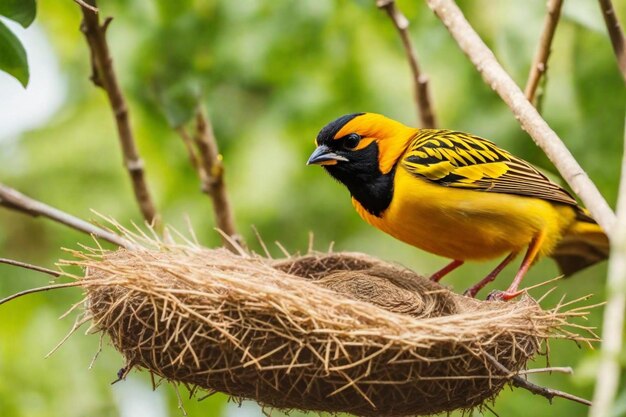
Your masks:
<path fill-rule="evenodd" d="M 224 165 L 222 155 L 220 155 L 213 126 L 205 115 L 204 110 L 198 107 L 196 112 L 196 135 L 194 137 L 198 148 L 200 159 L 200 181 L 202 192 L 211 197 L 213 201 L 213 213 L 217 227 L 227 236 L 233 239 L 239 248 L 244 248 L 245 244 L 241 236 L 237 233 L 235 219 L 231 208 L 226 184 L 224 183 Z M 234 253 L 238 253 L 236 245 L 232 245 L 226 237 L 223 237 L 224 246 Z"/>

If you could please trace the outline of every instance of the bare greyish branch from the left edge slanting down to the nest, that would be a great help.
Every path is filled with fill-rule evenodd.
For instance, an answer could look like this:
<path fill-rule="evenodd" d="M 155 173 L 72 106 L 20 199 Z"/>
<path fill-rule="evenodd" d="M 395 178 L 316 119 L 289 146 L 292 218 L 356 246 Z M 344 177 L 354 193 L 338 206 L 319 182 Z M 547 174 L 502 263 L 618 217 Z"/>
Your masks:
<path fill-rule="evenodd" d="M 61 210 L 58 210 L 40 201 L 27 197 L 17 190 L 7 187 L 3 184 L 0 184 L 0 206 L 19 211 L 33 217 L 47 217 L 48 219 L 53 220 L 57 223 L 64 224 L 71 227 L 72 229 L 106 240 L 107 242 L 111 242 L 114 245 L 126 249 L 133 248 L 132 243 L 116 235 L 115 233 L 101 229 L 91 223 L 67 214 Z"/>

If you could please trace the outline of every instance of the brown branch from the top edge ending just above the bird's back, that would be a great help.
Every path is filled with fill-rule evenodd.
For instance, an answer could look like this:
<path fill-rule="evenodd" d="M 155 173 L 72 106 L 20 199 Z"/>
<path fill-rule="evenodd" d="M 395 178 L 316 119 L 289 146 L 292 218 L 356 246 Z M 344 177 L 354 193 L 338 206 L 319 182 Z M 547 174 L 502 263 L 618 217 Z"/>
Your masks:
<path fill-rule="evenodd" d="M 409 61 L 411 72 L 413 73 L 415 105 L 417 106 L 417 116 L 422 127 L 432 129 L 436 127 L 437 122 L 430 99 L 430 89 L 428 77 L 421 73 L 417 61 L 417 53 L 409 37 L 409 21 L 396 6 L 395 0 L 376 0 L 376 6 L 384 9 L 389 18 L 393 22 L 395 28 L 402 39 L 404 52 Z"/>

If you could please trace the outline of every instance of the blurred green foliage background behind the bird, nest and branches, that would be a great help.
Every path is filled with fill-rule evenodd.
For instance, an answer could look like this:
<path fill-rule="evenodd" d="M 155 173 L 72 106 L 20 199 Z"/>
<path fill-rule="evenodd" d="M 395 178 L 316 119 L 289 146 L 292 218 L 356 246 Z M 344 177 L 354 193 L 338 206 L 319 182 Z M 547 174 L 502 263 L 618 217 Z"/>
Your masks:
<path fill-rule="evenodd" d="M 220 242 L 210 200 L 172 125 L 191 117 L 197 99 L 213 122 L 224 155 L 226 182 L 237 226 L 260 251 L 263 239 L 289 251 L 315 248 L 362 251 L 429 274 L 447 260 L 384 235 L 358 218 L 347 191 L 319 167 L 306 167 L 318 130 L 345 113 L 371 111 L 417 123 L 412 81 L 400 39 L 373 0 L 211 1 L 110 0 L 108 39 L 129 100 L 132 124 L 145 160 L 149 186 L 164 220 L 186 229 L 189 216 L 200 241 Z M 509 109 L 483 83 L 425 2 L 399 0 L 411 21 L 440 127 L 472 132 L 526 158 L 554 168 L 523 132 Z M 526 82 L 545 15 L 544 0 L 460 1 L 487 44 L 519 85 Z M 615 0 L 622 22 L 626 2 Z M 81 14 L 70 1 L 38 2 L 35 24 L 24 30 L 5 21 L 22 40 L 30 62 L 27 89 L 0 73 L 0 181 L 85 219 L 91 210 L 124 225 L 142 219 L 132 197 L 115 125 L 104 93 L 89 81 L 89 53 L 79 31 Z M 542 113 L 611 204 L 616 199 L 622 155 L 626 92 L 594 0 L 568 0 L 549 62 Z M 557 178 L 555 176 L 554 178 Z M 91 240 L 60 225 L 0 209 L 0 256 L 52 266 Z M 275 256 L 277 247 L 271 246 Z M 498 261 L 470 264 L 446 278 L 463 291 Z M 504 288 L 517 265 L 495 283 Z M 554 278 L 543 260 L 527 285 Z M 606 263 L 558 283 L 544 302 L 565 295 L 605 299 Z M 0 266 L 0 298 L 44 285 L 34 272 Z M 491 288 L 491 287 L 490 287 Z M 533 290 L 535 296 L 548 287 Z M 487 291 L 482 294 L 483 296 Z M 173 387 L 152 391 L 149 377 L 133 372 L 110 383 L 123 365 L 97 335 L 78 332 L 44 356 L 70 329 L 73 316 L 58 317 L 81 298 L 67 289 L 21 298 L 0 307 L 0 415 L 181 416 Z M 585 323 L 601 324 L 601 308 Z M 597 347 L 597 346 L 596 346 Z M 534 375 L 542 385 L 590 398 L 598 352 L 573 342 L 550 343 L 553 366 L 572 366 L 573 376 Z M 533 364 L 546 366 L 545 359 Z M 186 392 L 181 389 L 181 396 Z M 626 413 L 621 390 L 616 415 Z M 190 416 L 260 416 L 252 402 L 239 407 L 221 394 L 184 399 Z M 501 416 L 583 416 L 585 406 L 505 389 L 493 410 Z M 273 413 L 280 415 L 280 413 Z M 298 415 L 294 413 L 292 415 Z M 475 415 L 481 415 L 475 412 Z M 493 415 L 485 411 L 485 415 Z"/>

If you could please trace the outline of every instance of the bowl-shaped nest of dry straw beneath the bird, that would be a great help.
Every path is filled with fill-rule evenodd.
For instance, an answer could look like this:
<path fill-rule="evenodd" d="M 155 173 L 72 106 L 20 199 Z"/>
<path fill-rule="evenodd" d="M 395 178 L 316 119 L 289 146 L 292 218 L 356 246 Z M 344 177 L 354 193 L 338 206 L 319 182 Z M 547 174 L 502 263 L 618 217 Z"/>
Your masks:
<path fill-rule="evenodd" d="M 481 302 L 365 255 L 172 246 L 81 254 L 87 314 L 127 361 L 281 409 L 407 416 L 493 399 L 567 314 Z"/>

